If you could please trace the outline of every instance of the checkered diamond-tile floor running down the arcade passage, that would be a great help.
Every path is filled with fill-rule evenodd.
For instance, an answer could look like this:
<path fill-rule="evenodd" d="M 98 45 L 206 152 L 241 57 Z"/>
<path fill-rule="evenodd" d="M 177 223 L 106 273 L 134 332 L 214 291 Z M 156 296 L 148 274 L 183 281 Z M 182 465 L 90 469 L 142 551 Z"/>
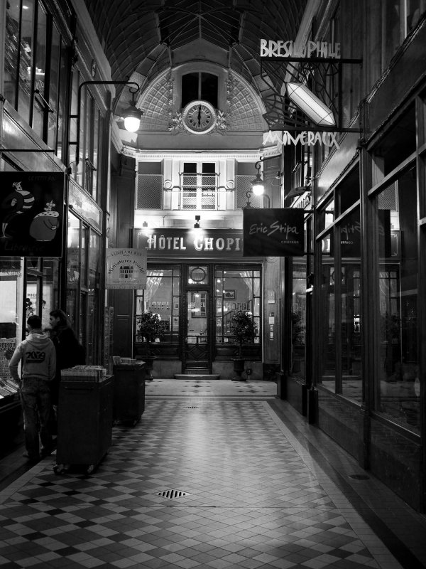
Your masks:
<path fill-rule="evenodd" d="M 0 565 L 403 566 L 278 418 L 274 383 L 163 382 L 94 474 L 55 474 L 53 456 L 1 492 Z"/>

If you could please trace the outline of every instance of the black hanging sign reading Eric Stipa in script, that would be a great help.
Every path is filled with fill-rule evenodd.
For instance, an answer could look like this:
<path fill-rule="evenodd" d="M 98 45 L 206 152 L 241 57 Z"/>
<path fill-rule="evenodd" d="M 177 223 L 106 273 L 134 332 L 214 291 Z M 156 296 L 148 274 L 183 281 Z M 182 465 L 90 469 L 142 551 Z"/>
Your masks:
<path fill-rule="evenodd" d="M 300 257 L 305 252 L 302 209 L 243 210 L 244 257 Z"/>

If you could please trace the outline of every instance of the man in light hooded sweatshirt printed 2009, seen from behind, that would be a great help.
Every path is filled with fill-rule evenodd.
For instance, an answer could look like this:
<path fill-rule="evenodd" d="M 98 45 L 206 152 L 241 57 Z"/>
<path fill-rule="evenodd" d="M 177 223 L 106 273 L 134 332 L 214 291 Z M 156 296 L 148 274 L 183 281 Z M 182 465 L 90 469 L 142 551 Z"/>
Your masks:
<path fill-rule="evenodd" d="M 39 316 L 27 320 L 28 336 L 21 341 L 9 362 L 12 378 L 19 388 L 23 412 L 23 430 L 26 452 L 24 456 L 35 461 L 52 451 L 52 435 L 48 430 L 50 419 L 50 387 L 56 373 L 56 354 L 53 341 L 41 329 Z M 18 364 L 22 360 L 21 377 Z"/>

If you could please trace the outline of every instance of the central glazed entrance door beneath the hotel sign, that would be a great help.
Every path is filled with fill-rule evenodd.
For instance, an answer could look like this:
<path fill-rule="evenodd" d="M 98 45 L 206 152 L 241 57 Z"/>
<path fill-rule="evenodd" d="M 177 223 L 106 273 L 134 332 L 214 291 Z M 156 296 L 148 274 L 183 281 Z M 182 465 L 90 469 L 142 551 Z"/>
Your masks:
<path fill-rule="evenodd" d="M 212 373 L 212 334 L 207 289 L 187 290 L 186 314 L 184 371 Z"/>

